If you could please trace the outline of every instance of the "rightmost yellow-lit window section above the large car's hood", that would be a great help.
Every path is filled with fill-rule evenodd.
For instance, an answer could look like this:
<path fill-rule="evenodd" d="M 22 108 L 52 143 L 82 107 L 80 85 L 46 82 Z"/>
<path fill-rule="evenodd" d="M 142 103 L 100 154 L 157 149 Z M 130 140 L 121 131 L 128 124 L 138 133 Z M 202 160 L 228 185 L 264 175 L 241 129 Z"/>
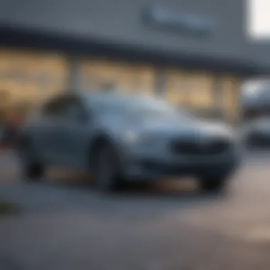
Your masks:
<path fill-rule="evenodd" d="M 171 70 L 167 98 L 207 117 L 239 117 L 239 79 L 230 75 Z"/>

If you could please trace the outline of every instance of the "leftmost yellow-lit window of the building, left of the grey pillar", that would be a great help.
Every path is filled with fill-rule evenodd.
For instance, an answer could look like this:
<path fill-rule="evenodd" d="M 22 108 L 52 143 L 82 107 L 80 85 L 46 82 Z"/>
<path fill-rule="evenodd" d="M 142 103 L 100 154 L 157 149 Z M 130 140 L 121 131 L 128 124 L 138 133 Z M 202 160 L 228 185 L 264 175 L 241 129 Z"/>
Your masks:
<path fill-rule="evenodd" d="M 0 107 L 34 106 L 44 97 L 66 87 L 68 65 L 59 54 L 0 50 L 0 91 L 9 96 Z"/>

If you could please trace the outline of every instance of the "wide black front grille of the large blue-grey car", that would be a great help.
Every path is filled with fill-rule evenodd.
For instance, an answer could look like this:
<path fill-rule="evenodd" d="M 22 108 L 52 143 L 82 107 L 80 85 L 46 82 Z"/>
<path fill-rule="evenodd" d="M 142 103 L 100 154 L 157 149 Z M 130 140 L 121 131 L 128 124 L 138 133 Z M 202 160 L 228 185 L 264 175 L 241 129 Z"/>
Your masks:
<path fill-rule="evenodd" d="M 225 153 L 229 149 L 229 142 L 216 139 L 207 142 L 173 141 L 171 151 L 183 155 L 215 155 Z"/>

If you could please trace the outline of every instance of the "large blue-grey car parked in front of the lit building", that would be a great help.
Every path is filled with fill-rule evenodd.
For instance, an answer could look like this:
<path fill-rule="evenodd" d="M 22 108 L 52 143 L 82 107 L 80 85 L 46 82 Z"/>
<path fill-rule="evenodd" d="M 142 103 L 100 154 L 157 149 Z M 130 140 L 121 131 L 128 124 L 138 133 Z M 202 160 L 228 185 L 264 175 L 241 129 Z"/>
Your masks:
<path fill-rule="evenodd" d="M 194 119 L 151 97 L 65 93 L 45 102 L 21 129 L 26 180 L 47 166 L 89 169 L 99 190 L 131 181 L 193 175 L 220 190 L 239 165 L 227 126 Z"/>

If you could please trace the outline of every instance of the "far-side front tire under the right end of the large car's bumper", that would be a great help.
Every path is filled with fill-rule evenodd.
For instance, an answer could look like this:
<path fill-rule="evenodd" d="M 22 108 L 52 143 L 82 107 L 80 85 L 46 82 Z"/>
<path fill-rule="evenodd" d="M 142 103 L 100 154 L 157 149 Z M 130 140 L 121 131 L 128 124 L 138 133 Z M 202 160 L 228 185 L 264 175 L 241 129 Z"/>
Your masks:
<path fill-rule="evenodd" d="M 201 178 L 200 189 L 206 193 L 220 193 L 225 190 L 227 180 L 225 177 Z"/>

